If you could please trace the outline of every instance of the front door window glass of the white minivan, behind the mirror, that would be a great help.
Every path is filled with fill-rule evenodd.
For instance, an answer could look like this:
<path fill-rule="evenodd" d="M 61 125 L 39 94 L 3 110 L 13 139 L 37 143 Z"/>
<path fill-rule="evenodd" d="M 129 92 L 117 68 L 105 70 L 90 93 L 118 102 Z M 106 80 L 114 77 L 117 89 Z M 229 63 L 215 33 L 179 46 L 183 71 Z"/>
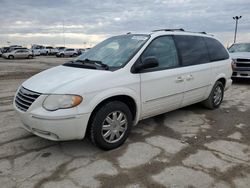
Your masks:
<path fill-rule="evenodd" d="M 159 62 L 156 69 L 164 69 L 178 66 L 178 55 L 174 40 L 171 36 L 159 37 L 153 40 L 143 52 L 141 60 L 147 57 L 155 57 Z"/>

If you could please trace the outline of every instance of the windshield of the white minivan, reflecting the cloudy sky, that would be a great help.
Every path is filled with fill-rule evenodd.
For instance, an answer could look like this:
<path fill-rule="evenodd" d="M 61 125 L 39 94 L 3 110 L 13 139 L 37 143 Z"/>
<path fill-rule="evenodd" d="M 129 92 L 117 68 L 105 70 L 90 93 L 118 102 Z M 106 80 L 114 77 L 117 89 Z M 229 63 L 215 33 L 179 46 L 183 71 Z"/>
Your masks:
<path fill-rule="evenodd" d="M 75 61 L 99 61 L 109 68 L 124 66 L 147 41 L 149 35 L 121 35 L 111 37 L 79 56 Z"/>

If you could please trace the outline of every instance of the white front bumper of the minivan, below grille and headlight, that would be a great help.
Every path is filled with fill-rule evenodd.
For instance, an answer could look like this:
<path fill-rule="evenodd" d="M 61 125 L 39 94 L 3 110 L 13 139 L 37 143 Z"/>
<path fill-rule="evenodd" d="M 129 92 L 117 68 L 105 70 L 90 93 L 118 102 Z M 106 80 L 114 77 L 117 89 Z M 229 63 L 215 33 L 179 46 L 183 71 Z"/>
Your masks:
<path fill-rule="evenodd" d="M 85 136 L 90 113 L 78 114 L 77 108 L 49 112 L 43 109 L 38 99 L 24 112 L 14 108 L 19 115 L 23 128 L 49 140 L 80 140 Z"/>

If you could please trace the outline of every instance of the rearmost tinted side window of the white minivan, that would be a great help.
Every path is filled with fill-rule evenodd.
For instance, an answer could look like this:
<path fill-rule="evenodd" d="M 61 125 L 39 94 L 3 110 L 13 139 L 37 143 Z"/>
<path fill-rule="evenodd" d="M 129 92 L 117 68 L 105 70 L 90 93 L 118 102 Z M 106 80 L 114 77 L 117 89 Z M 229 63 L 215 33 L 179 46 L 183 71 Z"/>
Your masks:
<path fill-rule="evenodd" d="M 204 40 L 206 42 L 211 61 L 219 61 L 229 58 L 225 47 L 218 40 L 208 37 L 204 37 Z"/>

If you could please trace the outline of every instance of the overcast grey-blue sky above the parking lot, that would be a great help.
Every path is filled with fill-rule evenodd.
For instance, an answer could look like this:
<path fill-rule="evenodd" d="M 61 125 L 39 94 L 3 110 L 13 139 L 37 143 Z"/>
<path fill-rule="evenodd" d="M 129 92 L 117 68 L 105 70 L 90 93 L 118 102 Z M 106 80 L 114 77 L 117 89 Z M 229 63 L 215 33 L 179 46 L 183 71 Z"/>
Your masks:
<path fill-rule="evenodd" d="M 0 46 L 87 47 L 127 32 L 184 28 L 250 41 L 250 0 L 0 0 Z"/>

